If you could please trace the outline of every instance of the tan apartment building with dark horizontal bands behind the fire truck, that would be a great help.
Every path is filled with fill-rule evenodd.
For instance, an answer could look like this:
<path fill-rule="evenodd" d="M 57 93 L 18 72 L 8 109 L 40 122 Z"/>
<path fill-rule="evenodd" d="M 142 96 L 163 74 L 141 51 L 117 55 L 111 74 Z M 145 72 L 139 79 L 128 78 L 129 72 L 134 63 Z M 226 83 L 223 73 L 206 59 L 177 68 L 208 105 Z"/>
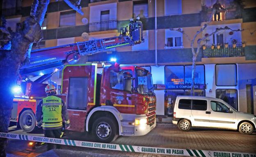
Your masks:
<path fill-rule="evenodd" d="M 151 71 L 154 84 L 165 84 L 155 90 L 157 115 L 171 115 L 177 95 L 189 95 L 192 73 L 190 40 L 208 36 L 201 43 L 195 71 L 195 95 L 220 98 L 233 108 L 256 114 L 256 2 L 219 0 L 227 10 L 220 20 L 212 17 L 216 0 L 82 0 L 84 15 L 73 11 L 64 1 L 51 0 L 42 25 L 43 40 L 34 49 L 59 46 L 119 35 L 131 18 L 140 17 L 145 42 L 117 47 L 102 53 L 83 56 L 79 64 L 107 63 L 111 57 L 120 64 L 144 66 Z M 7 26 L 30 14 L 32 0 L 3 0 L 2 14 Z M 210 22 L 207 22 L 210 19 Z M 187 36 L 172 29 L 180 29 Z M 234 30 L 242 31 L 234 31 Z M 243 43 L 243 44 L 242 44 Z M 197 44 L 194 44 L 196 47 Z M 102 68 L 98 68 L 101 73 Z M 60 85 L 61 72 L 53 76 Z"/>

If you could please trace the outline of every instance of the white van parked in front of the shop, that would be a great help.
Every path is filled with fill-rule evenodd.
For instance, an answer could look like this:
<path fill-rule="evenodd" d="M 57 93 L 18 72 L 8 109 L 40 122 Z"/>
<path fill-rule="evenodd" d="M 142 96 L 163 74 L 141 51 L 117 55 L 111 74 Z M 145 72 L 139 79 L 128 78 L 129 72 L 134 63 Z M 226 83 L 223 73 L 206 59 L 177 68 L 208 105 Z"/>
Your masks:
<path fill-rule="evenodd" d="M 249 135 L 256 128 L 256 116 L 238 112 L 217 98 L 178 95 L 172 123 L 182 131 L 190 127 L 225 128 Z"/>

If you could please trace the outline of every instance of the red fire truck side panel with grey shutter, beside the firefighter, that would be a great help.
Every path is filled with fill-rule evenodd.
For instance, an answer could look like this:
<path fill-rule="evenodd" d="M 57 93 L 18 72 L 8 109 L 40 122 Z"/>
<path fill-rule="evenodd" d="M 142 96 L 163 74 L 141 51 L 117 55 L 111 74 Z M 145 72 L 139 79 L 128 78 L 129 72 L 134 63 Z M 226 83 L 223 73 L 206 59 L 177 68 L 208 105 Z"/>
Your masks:
<path fill-rule="evenodd" d="M 67 95 L 70 129 L 85 130 L 86 113 L 95 105 L 97 64 L 67 65 L 62 70 L 62 94 Z"/>

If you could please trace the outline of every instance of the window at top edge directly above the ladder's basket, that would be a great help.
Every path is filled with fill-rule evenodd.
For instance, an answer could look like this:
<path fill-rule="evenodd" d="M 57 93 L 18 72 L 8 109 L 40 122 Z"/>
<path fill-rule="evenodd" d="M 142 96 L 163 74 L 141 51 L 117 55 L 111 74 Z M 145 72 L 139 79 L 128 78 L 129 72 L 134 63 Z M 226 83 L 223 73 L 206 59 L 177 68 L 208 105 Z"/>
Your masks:
<path fill-rule="evenodd" d="M 139 0 L 133 2 L 133 18 L 145 18 L 148 17 L 148 1 Z"/>

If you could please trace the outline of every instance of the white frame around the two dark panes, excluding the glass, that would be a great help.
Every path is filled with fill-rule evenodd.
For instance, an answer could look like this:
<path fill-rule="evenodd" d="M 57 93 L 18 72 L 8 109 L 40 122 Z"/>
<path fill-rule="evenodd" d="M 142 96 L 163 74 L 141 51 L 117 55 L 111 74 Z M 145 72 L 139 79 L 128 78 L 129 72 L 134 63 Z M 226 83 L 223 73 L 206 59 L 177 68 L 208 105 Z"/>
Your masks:
<path fill-rule="evenodd" d="M 182 29 L 181 29 L 181 31 L 182 31 Z M 174 33 L 174 35 L 167 35 L 167 34 L 172 34 L 172 33 Z M 181 37 L 181 46 L 167 46 L 167 38 L 176 38 L 176 37 Z M 175 45 L 175 40 L 173 40 L 172 42 L 173 42 L 173 45 Z M 171 31 L 169 29 L 165 29 L 165 49 L 182 49 L 182 48 L 184 48 L 183 34 L 178 31 Z"/>

